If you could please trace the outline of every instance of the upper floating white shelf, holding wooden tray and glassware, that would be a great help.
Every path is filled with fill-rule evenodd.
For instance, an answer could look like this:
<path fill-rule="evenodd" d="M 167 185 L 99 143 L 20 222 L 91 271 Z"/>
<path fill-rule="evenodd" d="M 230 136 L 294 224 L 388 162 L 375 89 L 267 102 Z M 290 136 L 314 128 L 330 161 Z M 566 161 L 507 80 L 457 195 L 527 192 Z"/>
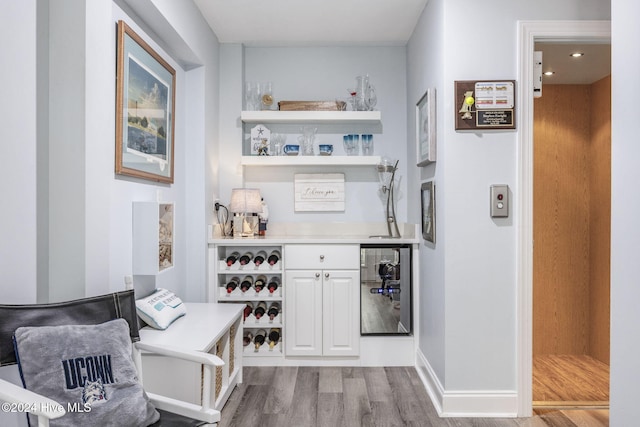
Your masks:
<path fill-rule="evenodd" d="M 380 125 L 380 111 L 242 111 L 244 123 Z"/>

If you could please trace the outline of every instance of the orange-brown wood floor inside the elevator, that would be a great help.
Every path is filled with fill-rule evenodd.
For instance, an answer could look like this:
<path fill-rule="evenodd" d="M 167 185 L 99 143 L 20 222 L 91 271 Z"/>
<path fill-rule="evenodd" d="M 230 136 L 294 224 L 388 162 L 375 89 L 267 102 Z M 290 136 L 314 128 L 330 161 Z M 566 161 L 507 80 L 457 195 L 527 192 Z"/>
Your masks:
<path fill-rule="evenodd" d="M 609 405 L 609 366 L 586 355 L 533 358 L 534 408 Z"/>

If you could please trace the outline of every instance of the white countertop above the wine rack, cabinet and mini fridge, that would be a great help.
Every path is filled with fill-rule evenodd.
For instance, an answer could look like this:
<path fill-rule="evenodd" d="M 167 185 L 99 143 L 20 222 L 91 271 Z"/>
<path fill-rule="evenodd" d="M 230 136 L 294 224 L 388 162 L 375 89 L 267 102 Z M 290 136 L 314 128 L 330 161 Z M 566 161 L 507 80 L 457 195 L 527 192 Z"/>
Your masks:
<path fill-rule="evenodd" d="M 269 223 L 266 236 L 255 238 L 223 237 L 219 226 L 209 226 L 210 244 L 237 246 L 275 244 L 414 244 L 419 243 L 418 226 L 399 224 L 401 237 L 388 236 L 385 223 Z M 385 236 L 385 237 L 371 237 Z"/>

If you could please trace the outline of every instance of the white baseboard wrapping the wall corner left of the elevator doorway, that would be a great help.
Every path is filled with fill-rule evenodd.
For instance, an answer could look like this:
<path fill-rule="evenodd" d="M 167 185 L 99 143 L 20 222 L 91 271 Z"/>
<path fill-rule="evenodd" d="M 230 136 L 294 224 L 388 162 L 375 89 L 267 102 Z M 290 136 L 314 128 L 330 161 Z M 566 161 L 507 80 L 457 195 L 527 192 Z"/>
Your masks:
<path fill-rule="evenodd" d="M 416 370 L 438 415 L 447 417 L 512 418 L 518 413 L 513 390 L 445 390 L 422 351 L 416 351 Z"/>

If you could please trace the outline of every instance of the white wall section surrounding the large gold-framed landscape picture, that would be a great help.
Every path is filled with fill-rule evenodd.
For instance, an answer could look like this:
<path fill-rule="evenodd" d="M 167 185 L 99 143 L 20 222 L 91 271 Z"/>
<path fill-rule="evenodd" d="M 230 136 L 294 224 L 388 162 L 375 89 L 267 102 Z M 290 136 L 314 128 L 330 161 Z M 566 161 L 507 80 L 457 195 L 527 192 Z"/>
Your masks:
<path fill-rule="evenodd" d="M 175 267 L 160 274 L 156 286 L 170 288 L 189 301 L 204 301 L 206 226 L 211 221 L 207 207 L 210 188 L 216 185 L 206 153 L 217 144 L 218 41 L 191 2 L 137 1 L 120 6 L 126 13 L 114 5 L 112 21 L 125 19 L 177 71 L 175 178 L 172 185 L 121 176 L 112 181 L 111 287 L 121 288 L 124 276 L 132 271 L 131 202 L 160 199 L 176 203 L 176 247 Z M 113 160 L 110 163 L 113 170 Z"/>

